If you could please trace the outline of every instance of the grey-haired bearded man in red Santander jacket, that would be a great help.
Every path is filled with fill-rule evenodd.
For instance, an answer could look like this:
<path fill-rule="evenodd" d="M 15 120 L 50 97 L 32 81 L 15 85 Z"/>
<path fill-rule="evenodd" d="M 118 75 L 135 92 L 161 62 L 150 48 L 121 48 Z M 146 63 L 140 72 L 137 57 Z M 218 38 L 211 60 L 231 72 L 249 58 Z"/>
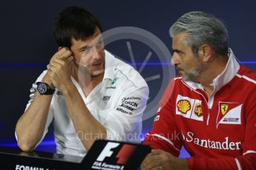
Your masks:
<path fill-rule="evenodd" d="M 141 168 L 256 169 L 256 72 L 238 64 L 226 27 L 208 13 L 186 13 L 170 34 L 181 76 L 160 101 Z"/>

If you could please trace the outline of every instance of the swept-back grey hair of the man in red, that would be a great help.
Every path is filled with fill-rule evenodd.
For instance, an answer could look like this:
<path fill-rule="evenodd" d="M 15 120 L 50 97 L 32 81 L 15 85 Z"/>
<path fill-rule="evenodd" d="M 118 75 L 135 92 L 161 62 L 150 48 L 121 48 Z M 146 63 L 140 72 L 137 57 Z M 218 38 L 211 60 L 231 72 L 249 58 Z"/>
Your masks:
<path fill-rule="evenodd" d="M 228 53 L 228 30 L 222 21 L 209 13 L 194 11 L 181 16 L 171 27 L 171 38 L 179 33 L 188 33 L 186 44 L 197 55 L 198 48 L 209 44 L 220 55 Z"/>

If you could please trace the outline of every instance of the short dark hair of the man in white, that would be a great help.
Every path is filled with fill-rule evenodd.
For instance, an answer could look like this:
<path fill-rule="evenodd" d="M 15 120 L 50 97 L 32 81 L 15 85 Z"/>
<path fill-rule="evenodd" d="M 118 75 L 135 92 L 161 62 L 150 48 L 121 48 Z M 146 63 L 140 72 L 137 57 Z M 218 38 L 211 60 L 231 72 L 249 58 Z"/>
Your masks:
<path fill-rule="evenodd" d="M 82 7 L 67 7 L 55 18 L 54 38 L 59 47 L 71 47 L 71 39 L 85 40 L 95 33 L 102 32 L 99 20 Z"/>

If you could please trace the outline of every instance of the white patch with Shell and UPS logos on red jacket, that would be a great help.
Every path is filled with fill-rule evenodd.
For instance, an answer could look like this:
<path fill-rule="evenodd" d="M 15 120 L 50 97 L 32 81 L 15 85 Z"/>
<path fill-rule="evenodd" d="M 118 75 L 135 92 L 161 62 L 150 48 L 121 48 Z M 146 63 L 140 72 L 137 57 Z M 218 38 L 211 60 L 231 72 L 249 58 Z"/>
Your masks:
<path fill-rule="evenodd" d="M 176 99 L 176 115 L 184 118 L 203 121 L 202 101 L 178 95 Z"/>

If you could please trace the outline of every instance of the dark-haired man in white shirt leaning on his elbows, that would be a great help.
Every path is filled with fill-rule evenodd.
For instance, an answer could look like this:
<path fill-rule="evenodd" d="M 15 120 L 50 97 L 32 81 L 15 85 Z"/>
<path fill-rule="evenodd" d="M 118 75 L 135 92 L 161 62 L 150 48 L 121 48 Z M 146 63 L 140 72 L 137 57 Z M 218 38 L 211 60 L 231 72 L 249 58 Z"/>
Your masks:
<path fill-rule="evenodd" d="M 81 7 L 56 17 L 59 51 L 30 89 L 16 124 L 20 149 L 35 149 L 52 120 L 61 154 L 84 156 L 96 139 L 140 142 L 148 85 L 105 50 L 101 33 L 99 21 Z"/>

